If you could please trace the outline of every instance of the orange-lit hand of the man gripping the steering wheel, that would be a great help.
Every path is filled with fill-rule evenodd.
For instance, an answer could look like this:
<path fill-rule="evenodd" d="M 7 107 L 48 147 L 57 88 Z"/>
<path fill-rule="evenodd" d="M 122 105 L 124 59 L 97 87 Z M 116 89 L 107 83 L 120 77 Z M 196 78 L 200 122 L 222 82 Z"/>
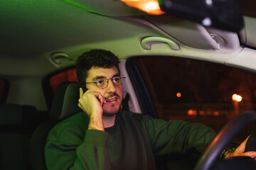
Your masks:
<path fill-rule="evenodd" d="M 245 152 L 245 145 L 246 145 L 246 142 L 248 140 L 249 137 L 247 137 L 247 139 L 242 142 L 242 144 L 237 148 L 235 149 L 234 152 L 229 152 L 226 157 L 238 157 L 238 156 L 246 156 L 246 157 L 251 157 L 252 159 L 255 159 L 256 160 L 256 152 Z"/>

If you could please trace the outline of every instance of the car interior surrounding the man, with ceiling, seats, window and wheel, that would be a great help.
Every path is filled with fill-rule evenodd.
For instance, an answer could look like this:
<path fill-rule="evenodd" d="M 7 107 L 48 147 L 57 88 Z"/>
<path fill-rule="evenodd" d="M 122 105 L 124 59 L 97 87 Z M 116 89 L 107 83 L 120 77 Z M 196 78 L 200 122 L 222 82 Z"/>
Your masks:
<path fill-rule="evenodd" d="M 249 135 L 256 151 L 256 1 L 0 0 L 0 169 L 46 169 L 48 132 L 80 112 L 75 64 L 110 50 L 126 77 L 120 109 L 202 123 L 206 152 L 156 157 L 159 169 L 255 169 L 220 160 Z M 244 168 L 246 167 L 246 168 Z"/>

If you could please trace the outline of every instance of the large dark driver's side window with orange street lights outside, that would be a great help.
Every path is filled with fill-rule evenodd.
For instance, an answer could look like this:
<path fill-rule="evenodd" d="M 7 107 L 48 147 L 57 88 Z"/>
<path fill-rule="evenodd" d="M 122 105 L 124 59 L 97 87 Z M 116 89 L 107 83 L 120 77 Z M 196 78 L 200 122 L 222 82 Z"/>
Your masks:
<path fill-rule="evenodd" d="M 235 115 L 255 110 L 254 73 L 180 57 L 143 57 L 135 63 L 161 119 L 200 122 L 219 132 Z M 238 135 L 241 141 L 251 128 Z"/>

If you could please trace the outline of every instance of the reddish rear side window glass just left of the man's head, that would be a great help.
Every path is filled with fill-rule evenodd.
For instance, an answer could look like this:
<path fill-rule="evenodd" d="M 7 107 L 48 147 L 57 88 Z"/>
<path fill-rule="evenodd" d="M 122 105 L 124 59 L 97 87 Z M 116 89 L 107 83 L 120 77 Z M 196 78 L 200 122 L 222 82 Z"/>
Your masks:
<path fill-rule="evenodd" d="M 50 86 L 53 89 L 54 93 L 55 93 L 57 87 L 63 81 L 75 81 L 75 82 L 78 81 L 77 75 L 75 73 L 75 68 L 68 69 L 63 72 L 59 72 L 58 74 L 55 74 L 52 77 L 50 77 Z"/>

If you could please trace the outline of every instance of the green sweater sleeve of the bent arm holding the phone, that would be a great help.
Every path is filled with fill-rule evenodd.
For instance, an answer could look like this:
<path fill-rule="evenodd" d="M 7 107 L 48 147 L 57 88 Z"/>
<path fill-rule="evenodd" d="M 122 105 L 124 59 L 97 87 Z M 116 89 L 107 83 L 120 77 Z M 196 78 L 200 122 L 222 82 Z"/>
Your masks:
<path fill-rule="evenodd" d="M 63 125 L 50 131 L 46 142 L 46 166 L 50 169 L 110 169 L 107 132 Z M 63 127 L 61 126 L 61 127 Z"/>

